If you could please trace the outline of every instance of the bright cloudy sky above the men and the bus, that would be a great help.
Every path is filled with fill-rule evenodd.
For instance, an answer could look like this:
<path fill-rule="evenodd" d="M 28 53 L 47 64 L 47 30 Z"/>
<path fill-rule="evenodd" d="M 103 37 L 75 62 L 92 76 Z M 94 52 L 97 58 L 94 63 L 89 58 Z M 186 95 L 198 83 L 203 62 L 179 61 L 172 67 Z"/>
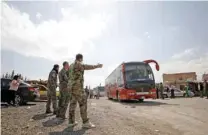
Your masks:
<path fill-rule="evenodd" d="M 154 59 L 163 73 L 208 73 L 208 2 L 24 1 L 1 4 L 1 72 L 47 79 L 53 65 L 102 63 L 100 83 L 122 62 Z"/>

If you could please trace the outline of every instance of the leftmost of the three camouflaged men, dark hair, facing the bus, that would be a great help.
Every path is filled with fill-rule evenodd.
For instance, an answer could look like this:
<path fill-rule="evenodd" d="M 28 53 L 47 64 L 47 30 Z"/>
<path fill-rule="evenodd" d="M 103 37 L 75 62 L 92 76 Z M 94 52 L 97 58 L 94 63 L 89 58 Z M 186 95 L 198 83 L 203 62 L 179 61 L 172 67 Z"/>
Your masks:
<path fill-rule="evenodd" d="M 56 88 L 58 87 L 57 76 L 59 72 L 59 65 L 55 64 L 53 69 L 49 73 L 48 82 L 47 82 L 47 104 L 46 104 L 46 113 L 52 113 L 51 111 L 51 102 L 53 104 L 53 114 L 57 113 L 57 99 L 56 99 Z"/>

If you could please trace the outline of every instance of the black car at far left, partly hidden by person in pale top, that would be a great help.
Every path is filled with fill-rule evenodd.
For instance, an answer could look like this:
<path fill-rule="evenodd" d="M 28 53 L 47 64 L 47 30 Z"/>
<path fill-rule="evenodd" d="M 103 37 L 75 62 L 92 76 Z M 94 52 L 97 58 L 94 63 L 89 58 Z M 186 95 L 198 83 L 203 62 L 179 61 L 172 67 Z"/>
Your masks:
<path fill-rule="evenodd" d="M 8 99 L 8 91 L 11 79 L 1 78 L 1 102 L 6 102 Z M 26 104 L 29 101 L 34 101 L 39 98 L 39 89 L 26 82 L 21 82 L 17 90 L 15 101 L 17 105 Z"/>

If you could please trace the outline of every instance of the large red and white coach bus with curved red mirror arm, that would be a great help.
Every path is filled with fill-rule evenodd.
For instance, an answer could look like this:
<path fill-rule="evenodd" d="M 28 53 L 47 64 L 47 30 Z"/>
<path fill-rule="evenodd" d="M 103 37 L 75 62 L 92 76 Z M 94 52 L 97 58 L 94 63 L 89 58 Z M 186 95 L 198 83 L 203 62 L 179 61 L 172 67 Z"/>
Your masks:
<path fill-rule="evenodd" d="M 105 80 L 108 99 L 139 100 L 156 98 L 155 78 L 149 63 L 159 65 L 155 60 L 125 62 L 119 65 Z"/>

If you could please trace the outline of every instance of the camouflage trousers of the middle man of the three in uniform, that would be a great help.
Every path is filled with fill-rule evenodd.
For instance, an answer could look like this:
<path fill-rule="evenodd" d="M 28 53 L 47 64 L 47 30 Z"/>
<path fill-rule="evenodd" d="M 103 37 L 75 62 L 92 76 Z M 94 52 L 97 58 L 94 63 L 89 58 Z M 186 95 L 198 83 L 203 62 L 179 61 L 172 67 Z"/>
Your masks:
<path fill-rule="evenodd" d="M 60 89 L 57 117 L 65 118 L 66 110 L 69 105 L 69 100 L 70 100 L 69 88 Z"/>

